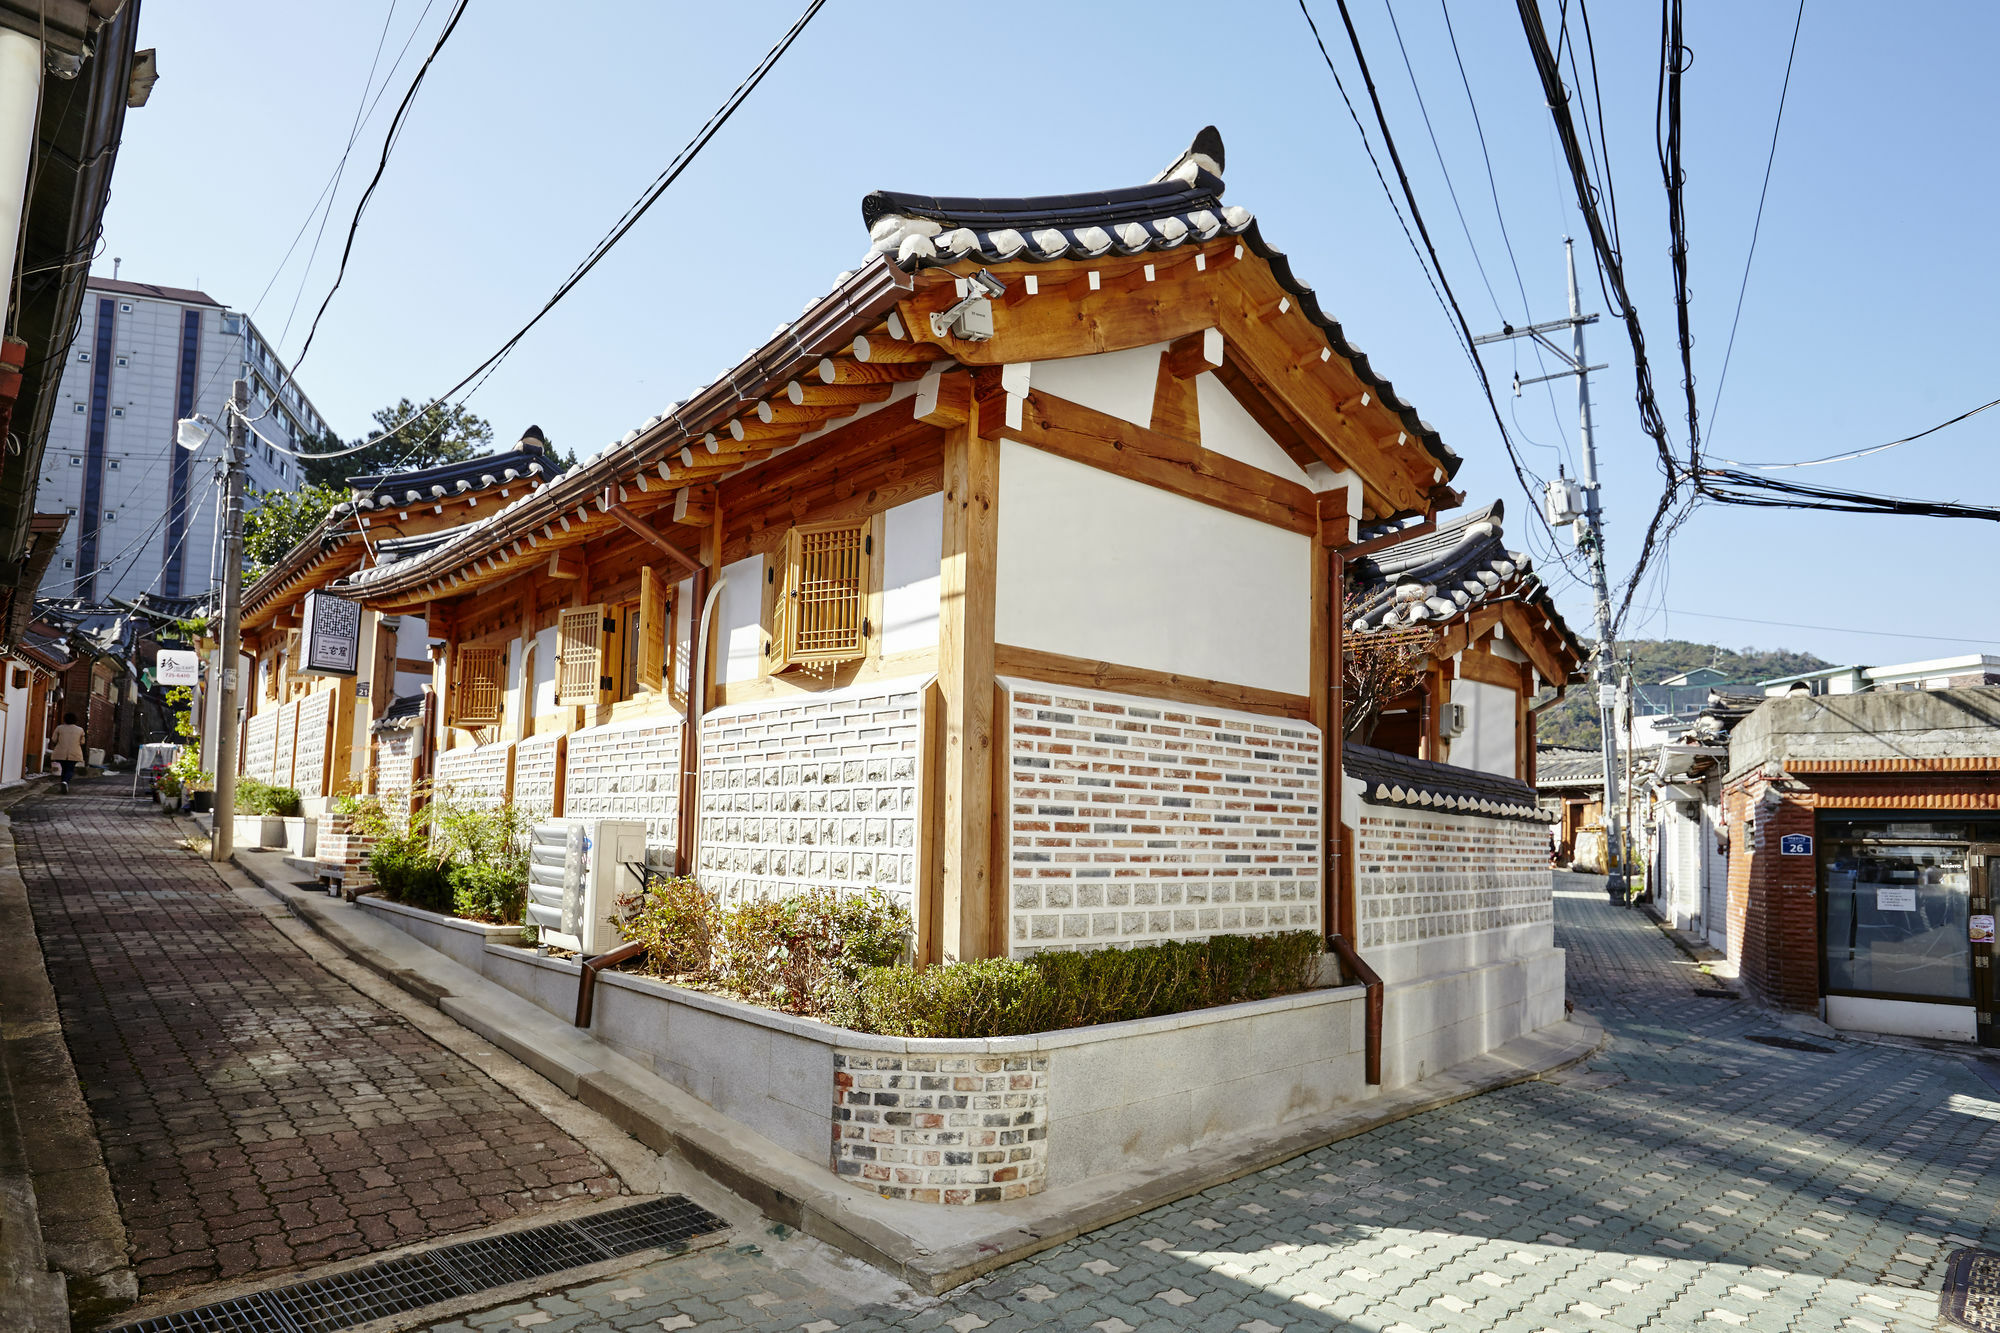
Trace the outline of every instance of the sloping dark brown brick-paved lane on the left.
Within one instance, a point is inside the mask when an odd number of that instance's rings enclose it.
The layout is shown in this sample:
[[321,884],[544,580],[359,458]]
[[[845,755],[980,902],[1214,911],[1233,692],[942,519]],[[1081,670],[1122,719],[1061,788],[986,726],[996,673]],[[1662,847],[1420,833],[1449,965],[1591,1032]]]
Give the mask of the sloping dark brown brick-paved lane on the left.
[[320,969],[116,777],[14,809],[144,1295],[348,1259],[618,1181]]

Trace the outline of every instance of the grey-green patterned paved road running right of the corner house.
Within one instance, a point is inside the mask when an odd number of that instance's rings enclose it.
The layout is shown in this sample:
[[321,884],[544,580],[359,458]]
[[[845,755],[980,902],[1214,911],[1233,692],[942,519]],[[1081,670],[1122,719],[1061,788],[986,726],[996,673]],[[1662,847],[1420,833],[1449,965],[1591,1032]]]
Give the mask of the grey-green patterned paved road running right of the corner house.
[[1716,987],[1596,881],[1558,883],[1570,993],[1614,1043],[1556,1081],[1308,1153],[944,1301],[828,1283],[788,1259],[796,1243],[748,1237],[764,1245],[438,1329],[1938,1327],[1942,1259],[2000,1245],[2000,1091],[1952,1055],[1750,1041],[1798,1035],[1698,997]]

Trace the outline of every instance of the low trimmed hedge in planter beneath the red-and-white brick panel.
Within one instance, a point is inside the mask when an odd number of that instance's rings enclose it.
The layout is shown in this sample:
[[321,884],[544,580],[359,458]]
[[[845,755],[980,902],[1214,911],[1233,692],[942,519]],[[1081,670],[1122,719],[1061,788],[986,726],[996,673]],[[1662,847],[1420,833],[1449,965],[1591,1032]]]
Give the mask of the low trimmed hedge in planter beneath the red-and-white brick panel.
[[1318,957],[1316,933],[1290,931],[1018,963],[870,967],[826,1011],[842,1027],[884,1037],[1018,1037],[1290,995],[1312,985]]

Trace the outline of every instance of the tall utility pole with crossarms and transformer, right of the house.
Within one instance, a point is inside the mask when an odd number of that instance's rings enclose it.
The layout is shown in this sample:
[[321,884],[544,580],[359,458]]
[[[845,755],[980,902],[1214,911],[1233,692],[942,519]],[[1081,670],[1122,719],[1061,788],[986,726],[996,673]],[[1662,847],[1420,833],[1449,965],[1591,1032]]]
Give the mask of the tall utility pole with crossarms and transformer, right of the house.
[[[1582,546],[1590,556],[1590,590],[1596,598],[1596,620],[1598,620],[1598,646],[1590,654],[1590,675],[1598,687],[1598,737],[1604,747],[1604,823],[1606,823],[1606,851],[1612,859],[1610,881],[1606,889],[1614,895],[1624,893],[1626,877],[1626,845],[1624,845],[1624,807],[1618,797],[1618,679],[1616,662],[1612,660],[1612,588],[1610,578],[1604,572],[1604,508],[1598,502],[1598,440],[1590,422],[1590,372],[1604,370],[1604,364],[1592,366],[1584,358],[1584,324],[1596,324],[1596,314],[1584,314],[1580,298],[1576,294],[1576,246],[1564,236],[1562,252],[1570,268],[1570,318],[1566,320],[1544,320],[1540,324],[1530,324],[1528,328],[1506,326],[1496,334],[1482,334],[1472,342],[1504,342],[1508,338],[1534,338],[1540,346],[1554,352],[1558,360],[1564,362],[1562,370],[1554,374],[1538,374],[1532,380],[1514,376],[1514,392],[1520,394],[1522,384],[1540,384],[1542,380],[1554,380],[1562,376],[1576,376],[1576,418],[1582,432],[1584,444],[1584,464],[1582,464],[1582,510],[1576,508],[1576,496],[1570,494],[1572,486],[1566,478],[1548,484],[1548,508],[1552,522],[1580,520],[1580,530],[1576,532],[1576,544]],[[1550,340],[1548,334],[1568,328],[1570,346],[1564,350]]]

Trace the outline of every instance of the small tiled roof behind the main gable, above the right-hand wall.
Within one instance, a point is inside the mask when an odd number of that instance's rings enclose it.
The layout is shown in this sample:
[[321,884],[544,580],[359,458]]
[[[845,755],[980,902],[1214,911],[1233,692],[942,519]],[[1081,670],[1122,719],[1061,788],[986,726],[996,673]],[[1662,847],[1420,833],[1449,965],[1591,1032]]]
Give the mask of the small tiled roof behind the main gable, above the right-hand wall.
[[1480,606],[1524,602],[1548,622],[1548,634],[1570,662],[1584,662],[1590,652],[1556,610],[1534,560],[1506,548],[1500,530],[1506,506],[1494,500],[1422,536],[1348,562],[1356,590],[1350,632],[1442,628]]

